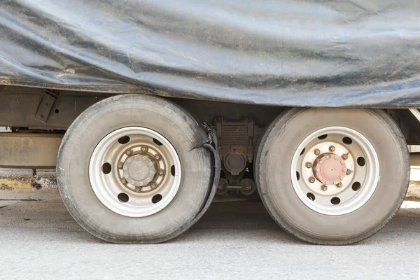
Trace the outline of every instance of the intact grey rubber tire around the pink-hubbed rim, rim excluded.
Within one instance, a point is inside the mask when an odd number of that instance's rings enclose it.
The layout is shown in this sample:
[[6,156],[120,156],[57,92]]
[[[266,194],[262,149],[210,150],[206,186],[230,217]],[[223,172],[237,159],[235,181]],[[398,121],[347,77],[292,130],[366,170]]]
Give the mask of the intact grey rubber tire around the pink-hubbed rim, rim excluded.
[[[348,214],[328,216],[297,197],[290,165],[297,146],[318,129],[345,126],[366,137],[380,167],[377,188],[365,204]],[[393,120],[381,110],[291,109],[267,128],[255,162],[256,181],[269,214],[295,237],[314,244],[352,244],[388,223],[398,211],[409,184],[409,152]]]

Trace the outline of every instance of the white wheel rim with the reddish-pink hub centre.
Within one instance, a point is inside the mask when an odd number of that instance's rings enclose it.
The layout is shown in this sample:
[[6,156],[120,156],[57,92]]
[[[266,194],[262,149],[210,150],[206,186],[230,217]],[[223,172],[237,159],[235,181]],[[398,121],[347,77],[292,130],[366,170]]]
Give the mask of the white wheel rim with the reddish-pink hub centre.
[[356,211],[379,181],[379,160],[372,144],[347,127],[313,132],[293,155],[290,176],[297,197],[325,215]]

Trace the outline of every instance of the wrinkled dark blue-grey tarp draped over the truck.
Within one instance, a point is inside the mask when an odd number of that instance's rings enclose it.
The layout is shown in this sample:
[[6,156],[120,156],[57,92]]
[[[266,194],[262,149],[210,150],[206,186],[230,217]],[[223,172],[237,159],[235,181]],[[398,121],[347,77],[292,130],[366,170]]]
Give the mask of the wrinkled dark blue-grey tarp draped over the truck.
[[0,0],[0,38],[12,85],[420,105],[419,0]]

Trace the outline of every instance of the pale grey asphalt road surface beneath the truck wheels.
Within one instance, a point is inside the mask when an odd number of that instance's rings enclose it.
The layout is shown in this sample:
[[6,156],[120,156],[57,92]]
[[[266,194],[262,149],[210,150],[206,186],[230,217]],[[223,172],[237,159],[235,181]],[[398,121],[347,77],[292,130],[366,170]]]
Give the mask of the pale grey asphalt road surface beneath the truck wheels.
[[259,202],[212,204],[195,227],[155,245],[82,230],[56,191],[0,193],[0,279],[419,279],[420,202],[352,246],[290,237]]

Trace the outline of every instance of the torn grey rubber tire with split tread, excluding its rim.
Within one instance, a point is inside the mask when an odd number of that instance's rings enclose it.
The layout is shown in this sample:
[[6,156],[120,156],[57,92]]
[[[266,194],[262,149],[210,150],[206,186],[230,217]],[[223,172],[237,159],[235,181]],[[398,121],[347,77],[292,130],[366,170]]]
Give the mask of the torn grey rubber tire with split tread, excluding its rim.
[[[172,202],[156,214],[121,216],[102,204],[90,186],[90,155],[107,134],[123,127],[146,127],[175,148],[182,167]],[[95,237],[113,243],[158,243],[190,228],[209,192],[211,155],[202,148],[207,134],[183,109],[159,97],[125,94],[104,99],[83,112],[67,130],[57,158],[59,193],[71,216]]]

